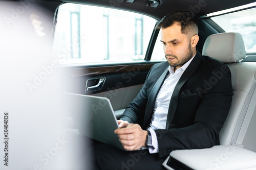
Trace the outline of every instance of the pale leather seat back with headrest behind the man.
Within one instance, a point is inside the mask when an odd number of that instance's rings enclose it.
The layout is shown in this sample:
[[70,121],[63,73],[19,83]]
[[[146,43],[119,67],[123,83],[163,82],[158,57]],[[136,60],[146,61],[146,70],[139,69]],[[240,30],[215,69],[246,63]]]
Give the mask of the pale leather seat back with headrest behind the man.
[[231,71],[234,95],[220,132],[220,144],[239,145],[256,152],[256,62],[239,62],[245,58],[242,36],[239,33],[210,35],[202,54],[227,64]]

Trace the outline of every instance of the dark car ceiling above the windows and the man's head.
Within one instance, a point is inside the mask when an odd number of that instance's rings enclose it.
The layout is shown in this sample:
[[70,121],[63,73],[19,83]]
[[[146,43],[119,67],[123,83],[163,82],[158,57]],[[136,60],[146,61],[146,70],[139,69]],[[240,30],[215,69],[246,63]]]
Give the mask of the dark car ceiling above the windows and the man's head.
[[[52,0],[53,1],[53,0]],[[118,8],[127,11],[136,11],[157,20],[173,11],[189,10],[197,17],[233,7],[246,5],[255,0],[159,0],[160,4],[154,8],[146,6],[147,0],[54,0],[55,2],[88,4],[109,8]],[[127,1],[134,1],[129,3]]]

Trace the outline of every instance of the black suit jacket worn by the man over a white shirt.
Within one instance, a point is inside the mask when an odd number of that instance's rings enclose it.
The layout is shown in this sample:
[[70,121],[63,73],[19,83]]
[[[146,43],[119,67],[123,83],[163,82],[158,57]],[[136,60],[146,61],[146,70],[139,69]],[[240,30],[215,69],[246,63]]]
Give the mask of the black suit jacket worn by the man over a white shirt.
[[[150,126],[158,91],[168,73],[169,63],[155,64],[133,102],[120,119]],[[155,130],[159,157],[177,149],[210,148],[219,144],[219,132],[232,101],[228,66],[197,52],[178,81],[167,114],[166,129]]]

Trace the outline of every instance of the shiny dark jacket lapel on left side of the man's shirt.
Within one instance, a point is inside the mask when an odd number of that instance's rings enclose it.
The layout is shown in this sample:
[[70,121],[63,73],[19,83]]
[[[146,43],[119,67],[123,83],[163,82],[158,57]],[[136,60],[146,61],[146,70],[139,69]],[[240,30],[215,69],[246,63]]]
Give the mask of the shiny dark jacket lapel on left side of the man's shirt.
[[147,105],[146,105],[144,121],[143,121],[143,124],[142,124],[143,128],[146,128],[146,126],[148,124],[150,124],[153,109],[154,109],[154,105],[155,105],[155,101],[156,101],[156,98],[157,98],[157,94],[158,94],[158,91],[159,91],[161,85],[163,84],[163,81],[165,80],[167,72],[168,72],[168,67],[164,70],[163,74],[159,77],[156,84],[154,85],[154,87],[151,90],[151,93],[150,93],[150,96],[148,98],[148,102],[147,102]]

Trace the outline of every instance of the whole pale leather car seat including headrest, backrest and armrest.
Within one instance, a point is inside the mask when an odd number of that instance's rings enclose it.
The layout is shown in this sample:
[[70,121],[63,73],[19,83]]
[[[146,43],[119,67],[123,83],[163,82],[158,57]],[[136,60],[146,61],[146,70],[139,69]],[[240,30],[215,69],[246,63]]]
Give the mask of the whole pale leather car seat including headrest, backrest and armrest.
[[221,145],[173,151],[163,165],[176,169],[170,163],[176,162],[173,159],[191,169],[256,169],[256,62],[239,62],[246,57],[239,33],[210,35],[202,54],[227,64],[231,71],[234,95],[220,132]]

